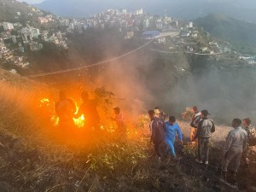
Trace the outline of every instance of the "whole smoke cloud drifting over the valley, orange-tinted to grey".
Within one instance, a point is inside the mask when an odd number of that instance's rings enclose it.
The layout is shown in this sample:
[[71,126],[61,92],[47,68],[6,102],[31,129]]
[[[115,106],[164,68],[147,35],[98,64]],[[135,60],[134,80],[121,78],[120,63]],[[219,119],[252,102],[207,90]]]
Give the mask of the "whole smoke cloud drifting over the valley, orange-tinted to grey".
[[183,55],[167,56],[167,61],[160,57],[141,52],[113,62],[96,84],[113,90],[120,99],[117,105],[132,113],[159,106],[179,118],[185,108],[197,105],[209,110],[211,119],[220,124],[230,125],[232,119],[245,117],[256,121],[255,67],[213,63],[189,73],[189,61]]

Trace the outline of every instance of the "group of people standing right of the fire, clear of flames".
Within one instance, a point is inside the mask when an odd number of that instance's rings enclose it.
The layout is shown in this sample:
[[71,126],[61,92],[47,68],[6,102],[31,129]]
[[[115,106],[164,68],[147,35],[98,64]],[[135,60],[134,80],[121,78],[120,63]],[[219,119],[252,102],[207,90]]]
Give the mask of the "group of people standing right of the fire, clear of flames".
[[[207,165],[209,162],[209,144],[212,134],[215,132],[215,125],[212,119],[208,118],[210,113],[207,110],[199,112],[196,106],[192,110],[194,115],[190,123],[190,141],[196,142],[198,146],[198,157],[195,162]],[[165,121],[160,115],[159,108],[149,110],[148,117],[151,120],[149,125],[151,131],[150,143],[154,144],[154,150],[159,160],[165,160],[168,154],[171,154],[172,158],[176,159],[174,148],[176,137],[183,145],[183,134],[176,123],[176,118],[171,116]],[[241,124],[244,125],[243,128],[241,128]],[[256,131],[251,125],[251,119],[233,119],[232,127],[233,130],[226,137],[222,154],[221,167],[224,181],[227,181],[229,165],[233,177],[236,177],[241,159],[246,159],[248,148],[256,144]]]

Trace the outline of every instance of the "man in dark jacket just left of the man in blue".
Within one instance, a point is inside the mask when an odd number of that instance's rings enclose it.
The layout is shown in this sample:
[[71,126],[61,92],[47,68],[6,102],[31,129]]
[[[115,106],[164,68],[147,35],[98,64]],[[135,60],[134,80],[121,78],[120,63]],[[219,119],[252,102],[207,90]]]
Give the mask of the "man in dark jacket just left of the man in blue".
[[148,117],[151,120],[150,143],[154,144],[154,150],[156,154],[159,156],[160,160],[164,160],[166,156],[166,123],[164,122],[163,119],[160,119],[159,117],[155,116],[154,110],[148,111]]

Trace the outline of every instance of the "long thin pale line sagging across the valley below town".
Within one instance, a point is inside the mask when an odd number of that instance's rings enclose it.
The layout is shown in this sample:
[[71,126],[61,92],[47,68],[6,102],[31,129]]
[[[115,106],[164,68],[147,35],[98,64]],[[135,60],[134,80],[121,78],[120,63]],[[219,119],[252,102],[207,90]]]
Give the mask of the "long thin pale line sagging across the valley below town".
[[26,78],[29,78],[29,79],[31,79],[31,78],[38,78],[38,77],[44,77],[44,76],[49,76],[49,75],[53,75],[53,74],[59,74],[59,73],[67,73],[67,72],[78,71],[78,70],[81,70],[81,69],[84,69],[84,68],[89,68],[89,67],[101,66],[101,65],[107,64],[108,62],[119,60],[120,58],[125,57],[125,56],[127,56],[127,55],[131,55],[132,53],[137,52],[139,49],[143,49],[143,47],[145,47],[145,46],[147,46],[148,44],[150,44],[153,40],[154,40],[154,39],[151,39],[148,43],[143,44],[142,46],[138,47],[137,49],[133,49],[133,50],[131,50],[130,52],[125,53],[124,55],[119,55],[119,56],[113,57],[113,58],[109,59],[108,61],[100,61],[100,62],[96,62],[96,63],[91,64],[91,65],[88,65],[88,66],[73,67],[73,68],[58,70],[58,71],[55,71],[55,72],[48,72],[48,73],[39,73],[39,74],[34,74],[34,75],[27,75]]

